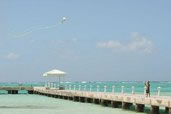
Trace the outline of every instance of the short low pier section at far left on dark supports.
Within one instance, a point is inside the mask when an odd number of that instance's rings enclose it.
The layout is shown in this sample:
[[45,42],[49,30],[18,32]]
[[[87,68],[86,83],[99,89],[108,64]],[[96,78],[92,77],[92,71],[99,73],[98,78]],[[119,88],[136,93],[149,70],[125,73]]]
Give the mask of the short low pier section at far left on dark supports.
[[28,94],[33,94],[33,87],[17,86],[17,87],[0,87],[0,90],[8,91],[8,94],[18,94],[20,90],[28,91]]

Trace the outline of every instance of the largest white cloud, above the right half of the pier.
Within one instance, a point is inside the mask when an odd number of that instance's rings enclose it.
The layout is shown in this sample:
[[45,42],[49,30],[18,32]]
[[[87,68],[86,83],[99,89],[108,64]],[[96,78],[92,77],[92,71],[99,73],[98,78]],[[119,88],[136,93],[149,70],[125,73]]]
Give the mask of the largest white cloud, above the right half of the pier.
[[132,40],[127,44],[119,41],[105,41],[97,43],[98,48],[110,48],[115,51],[136,51],[143,53],[151,53],[153,50],[153,43],[148,40],[146,36],[140,35],[137,32],[131,33]]

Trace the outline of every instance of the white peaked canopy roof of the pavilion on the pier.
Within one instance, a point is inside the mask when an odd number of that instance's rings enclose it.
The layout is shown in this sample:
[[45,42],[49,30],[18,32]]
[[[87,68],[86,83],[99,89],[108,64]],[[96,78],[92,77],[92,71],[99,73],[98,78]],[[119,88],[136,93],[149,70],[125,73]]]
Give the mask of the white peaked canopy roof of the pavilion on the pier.
[[64,77],[65,75],[66,75],[66,72],[63,72],[63,71],[57,70],[57,69],[45,72],[43,74],[43,76],[45,76],[45,77]]

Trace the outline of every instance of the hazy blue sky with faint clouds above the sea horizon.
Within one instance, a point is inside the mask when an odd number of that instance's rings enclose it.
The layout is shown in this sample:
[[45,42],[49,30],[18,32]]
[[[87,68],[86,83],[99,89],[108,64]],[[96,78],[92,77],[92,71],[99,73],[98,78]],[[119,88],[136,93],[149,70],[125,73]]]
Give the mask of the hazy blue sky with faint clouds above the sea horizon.
[[0,82],[52,69],[66,81],[171,81],[170,12],[170,0],[0,0]]

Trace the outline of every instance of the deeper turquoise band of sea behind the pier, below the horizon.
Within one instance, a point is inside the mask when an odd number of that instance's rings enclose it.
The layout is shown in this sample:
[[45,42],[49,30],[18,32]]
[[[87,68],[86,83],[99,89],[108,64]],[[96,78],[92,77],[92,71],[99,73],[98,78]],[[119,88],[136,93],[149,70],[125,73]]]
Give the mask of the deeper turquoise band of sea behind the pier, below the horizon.
[[[164,81],[164,82],[151,82],[151,94],[157,95],[158,87],[160,87],[160,94],[162,96],[171,96],[171,82],[170,81]],[[51,84],[46,84],[44,82],[34,82],[34,83],[0,83],[0,86],[33,86],[33,87],[43,87],[43,86],[51,86],[58,88],[59,83],[53,82]],[[61,82],[60,85],[65,86],[66,89],[69,89],[71,86],[71,89],[79,90],[79,86],[81,90],[84,90],[86,85],[86,90],[90,90],[90,85],[92,86],[92,91],[97,91],[97,86],[99,86],[99,91],[104,91],[104,86],[106,86],[107,92],[112,92],[112,86],[115,86],[115,92],[120,93],[121,87],[124,86],[124,92],[125,93],[131,93],[132,92],[132,86],[134,86],[135,94],[143,94],[144,93],[144,82],[137,81],[137,82]],[[7,93],[5,91],[0,91],[1,94]],[[22,92],[21,92],[22,93]],[[24,93],[24,91],[23,91]]]

